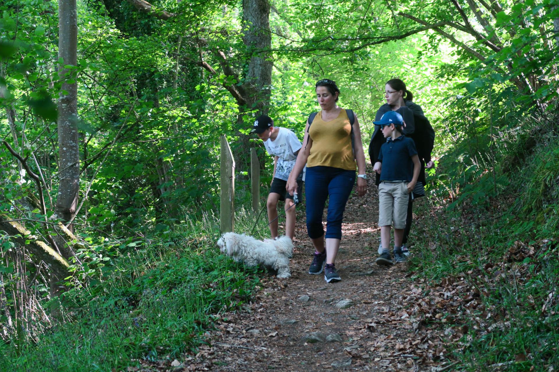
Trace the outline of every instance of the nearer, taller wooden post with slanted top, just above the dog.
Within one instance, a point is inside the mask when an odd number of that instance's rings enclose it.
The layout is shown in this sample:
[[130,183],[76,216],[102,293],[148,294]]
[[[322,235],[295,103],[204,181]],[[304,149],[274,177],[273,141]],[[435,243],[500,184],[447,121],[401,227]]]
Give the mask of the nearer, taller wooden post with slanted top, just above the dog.
[[233,231],[235,222],[235,159],[224,135],[220,152],[220,230]]

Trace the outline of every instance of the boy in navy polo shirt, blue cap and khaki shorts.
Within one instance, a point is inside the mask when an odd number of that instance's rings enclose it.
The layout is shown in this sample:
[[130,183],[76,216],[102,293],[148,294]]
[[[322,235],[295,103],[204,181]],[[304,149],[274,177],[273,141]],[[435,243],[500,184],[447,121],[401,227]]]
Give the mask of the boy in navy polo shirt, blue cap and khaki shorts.
[[[381,120],[373,121],[381,126],[382,135],[389,139],[381,146],[374,170],[380,174],[378,185],[378,226],[381,227],[382,254],[378,265],[392,265],[390,256],[390,228],[394,222],[394,259],[406,261],[403,254],[402,239],[408,214],[409,193],[419,178],[418,152],[414,141],[402,134],[404,121],[396,111],[385,113]],[[389,138],[390,137],[390,138]]]

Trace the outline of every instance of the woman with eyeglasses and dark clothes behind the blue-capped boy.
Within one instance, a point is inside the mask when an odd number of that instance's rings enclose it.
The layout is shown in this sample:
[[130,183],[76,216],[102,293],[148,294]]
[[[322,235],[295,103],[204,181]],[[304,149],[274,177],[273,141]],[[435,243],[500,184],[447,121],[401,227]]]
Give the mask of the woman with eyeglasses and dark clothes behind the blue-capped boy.
[[[386,103],[383,104],[377,111],[375,121],[381,120],[382,115],[389,111],[396,111],[404,118],[404,135],[414,140],[416,149],[418,151],[419,160],[421,163],[420,174],[418,182],[414,191],[409,194],[408,201],[408,216],[406,217],[406,227],[404,228],[404,239],[402,240],[401,253],[398,262],[405,261],[406,256],[409,255],[406,242],[410,233],[411,221],[413,216],[413,201],[416,197],[425,195],[423,186],[425,185],[425,166],[433,168],[434,163],[431,160],[431,151],[433,150],[433,141],[435,139],[435,132],[431,127],[429,120],[425,117],[423,109],[419,104],[414,103],[413,94],[406,89],[406,84],[400,79],[390,79],[385,85],[385,99]],[[416,120],[417,119],[417,120]],[[379,126],[375,126],[375,131],[371,136],[369,144],[369,157],[371,163],[375,164],[378,159],[378,154],[382,144],[389,139],[382,136]],[[380,184],[380,175],[376,174],[376,185]],[[378,254],[382,253],[382,247],[378,247]]]

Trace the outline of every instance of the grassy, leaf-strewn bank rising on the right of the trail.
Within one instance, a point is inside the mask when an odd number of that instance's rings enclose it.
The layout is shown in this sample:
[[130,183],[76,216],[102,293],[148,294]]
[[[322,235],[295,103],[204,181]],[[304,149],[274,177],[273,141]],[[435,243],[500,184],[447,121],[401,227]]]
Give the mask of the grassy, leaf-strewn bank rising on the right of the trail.
[[514,127],[496,149],[448,151],[417,211],[412,268],[434,299],[423,321],[444,327],[452,370],[559,365],[557,118]]

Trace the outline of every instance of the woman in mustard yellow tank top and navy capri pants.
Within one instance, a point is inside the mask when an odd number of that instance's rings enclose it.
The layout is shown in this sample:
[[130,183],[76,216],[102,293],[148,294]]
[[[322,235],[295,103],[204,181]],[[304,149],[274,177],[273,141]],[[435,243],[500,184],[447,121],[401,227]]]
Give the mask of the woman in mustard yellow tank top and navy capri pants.
[[[312,113],[306,122],[303,147],[287,180],[287,190],[297,189],[297,175],[307,164],[305,179],[307,233],[315,248],[309,274],[320,274],[324,268],[326,283],[342,280],[335,269],[342,239],[345,204],[356,179],[357,193],[367,192],[365,155],[357,117],[351,110],[338,106],[340,90],[333,80],[315,84],[321,111]],[[324,206],[328,201],[326,233],[322,225]]]

